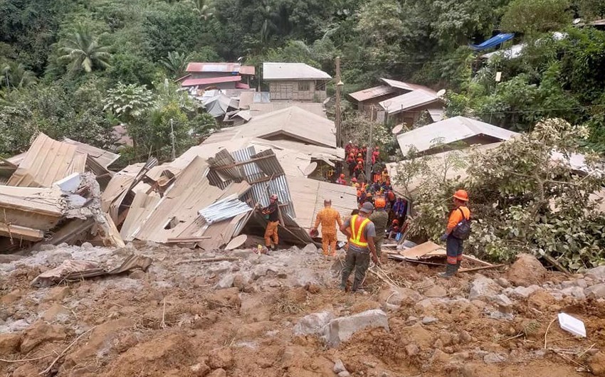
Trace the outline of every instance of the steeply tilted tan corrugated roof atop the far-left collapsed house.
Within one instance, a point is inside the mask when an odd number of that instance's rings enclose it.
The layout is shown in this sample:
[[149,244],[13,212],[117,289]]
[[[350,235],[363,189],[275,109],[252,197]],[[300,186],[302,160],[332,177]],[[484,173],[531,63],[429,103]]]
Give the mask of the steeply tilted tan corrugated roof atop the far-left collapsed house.
[[9,181],[8,186],[50,187],[73,173],[83,173],[86,154],[73,144],[38,134]]

